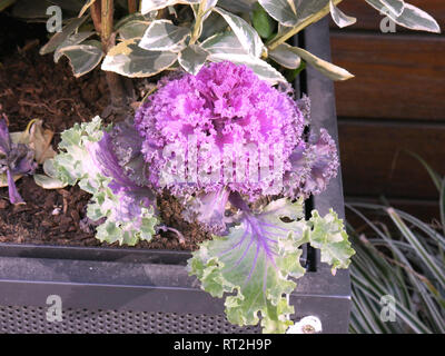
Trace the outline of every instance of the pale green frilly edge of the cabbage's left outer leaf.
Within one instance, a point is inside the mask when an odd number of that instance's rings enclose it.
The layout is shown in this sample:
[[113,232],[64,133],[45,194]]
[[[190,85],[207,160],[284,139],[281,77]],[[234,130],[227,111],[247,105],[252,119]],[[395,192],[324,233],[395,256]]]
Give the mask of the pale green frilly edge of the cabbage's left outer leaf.
[[[91,145],[102,139],[103,131],[110,129],[111,127],[105,128],[101,119],[96,117],[91,122],[76,123],[71,129],[63,131],[59,144],[60,154],[53,158],[53,167],[48,167],[46,172],[56,176],[53,178],[63,184],[78,184],[82,190],[92,195],[87,215],[95,221],[103,219],[97,228],[98,239],[134,246],[139,240],[151,239],[156,234],[155,226],[158,219],[152,207],[144,206],[139,215],[122,219],[125,197],[115,195],[108,188],[111,178],[102,176],[89,151]],[[135,204],[134,201],[131,204]]]

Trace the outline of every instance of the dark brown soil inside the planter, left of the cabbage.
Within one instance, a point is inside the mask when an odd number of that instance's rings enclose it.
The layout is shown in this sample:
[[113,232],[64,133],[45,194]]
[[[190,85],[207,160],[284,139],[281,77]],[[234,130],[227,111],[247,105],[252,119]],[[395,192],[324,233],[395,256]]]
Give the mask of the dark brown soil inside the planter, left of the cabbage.
[[[10,36],[11,27],[21,31],[20,40]],[[56,149],[60,132],[75,122],[101,115],[109,95],[100,70],[76,79],[65,58],[55,65],[52,55],[40,56],[38,50],[44,37],[39,31],[39,27],[17,27],[17,22],[0,17],[0,110],[8,116],[11,132],[22,131],[31,119],[42,119],[56,132]],[[0,188],[0,243],[110,246],[97,240],[93,231],[80,228],[89,194],[78,187],[46,190],[32,177],[21,178],[17,186],[26,205],[10,205],[8,189]],[[168,194],[158,198],[158,206],[162,221],[181,231],[186,241],[180,244],[168,231],[137,247],[194,250],[208,238],[198,225],[184,221],[181,206]]]

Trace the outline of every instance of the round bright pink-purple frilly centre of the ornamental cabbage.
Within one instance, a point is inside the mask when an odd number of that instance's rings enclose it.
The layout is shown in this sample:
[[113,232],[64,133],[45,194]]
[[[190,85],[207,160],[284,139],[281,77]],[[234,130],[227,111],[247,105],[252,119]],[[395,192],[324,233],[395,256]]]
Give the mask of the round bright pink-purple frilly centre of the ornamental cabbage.
[[[156,188],[181,186],[189,194],[186,180],[194,182],[196,192],[227,186],[255,200],[269,194],[274,179],[281,179],[290,168],[287,158],[301,140],[304,117],[290,96],[261,81],[246,66],[226,61],[210,63],[197,76],[162,82],[136,113],[135,125],[144,138],[142,152]],[[179,175],[186,174],[186,179],[174,182],[161,179],[171,167],[171,156],[165,157],[164,149],[171,145],[187,167]],[[261,151],[266,162],[258,160],[250,169],[253,155]],[[275,175],[258,174],[261,167],[274,166],[279,167]]]

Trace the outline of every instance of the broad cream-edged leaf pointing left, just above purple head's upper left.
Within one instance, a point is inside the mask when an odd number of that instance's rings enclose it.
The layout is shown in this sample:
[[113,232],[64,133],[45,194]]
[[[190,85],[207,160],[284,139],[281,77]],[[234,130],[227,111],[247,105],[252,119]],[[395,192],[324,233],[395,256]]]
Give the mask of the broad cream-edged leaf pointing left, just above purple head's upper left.
[[147,51],[138,46],[138,40],[130,39],[111,48],[101,68],[130,78],[144,78],[161,72],[177,59],[176,52]]

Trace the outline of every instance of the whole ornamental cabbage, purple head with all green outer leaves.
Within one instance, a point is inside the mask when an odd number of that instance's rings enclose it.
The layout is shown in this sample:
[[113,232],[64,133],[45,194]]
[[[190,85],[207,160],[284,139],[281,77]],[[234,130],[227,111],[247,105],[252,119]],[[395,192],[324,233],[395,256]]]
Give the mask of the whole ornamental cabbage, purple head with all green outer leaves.
[[333,210],[303,214],[339,165],[329,134],[308,134],[309,112],[307,97],[295,100],[246,66],[210,63],[162,78],[134,122],[102,127],[96,118],[63,132],[57,178],[93,195],[88,216],[102,222],[99,239],[128,245],[175,230],[156,216],[156,195],[170,190],[184,218],[212,234],[189,274],[226,298],[229,322],[261,319],[265,333],[285,333],[289,294],[305,274],[300,247],[320,249],[333,273],[354,254]]

